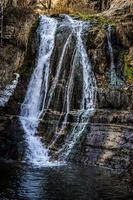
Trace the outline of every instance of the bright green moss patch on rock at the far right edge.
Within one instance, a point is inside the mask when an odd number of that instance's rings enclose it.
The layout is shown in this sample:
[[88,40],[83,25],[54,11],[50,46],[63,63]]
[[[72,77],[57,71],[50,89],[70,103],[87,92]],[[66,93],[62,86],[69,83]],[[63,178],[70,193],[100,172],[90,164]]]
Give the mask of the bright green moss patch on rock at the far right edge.
[[127,81],[133,83],[133,65],[125,64],[125,75],[127,77]]

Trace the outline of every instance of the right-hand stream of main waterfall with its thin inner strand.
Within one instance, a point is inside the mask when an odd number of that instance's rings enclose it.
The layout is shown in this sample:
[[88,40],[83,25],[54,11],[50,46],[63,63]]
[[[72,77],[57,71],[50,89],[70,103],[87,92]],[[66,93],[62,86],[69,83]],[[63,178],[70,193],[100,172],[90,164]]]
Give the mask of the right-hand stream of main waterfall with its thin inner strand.
[[[55,141],[58,140],[61,134],[64,134],[65,128],[67,127],[68,114],[71,112],[70,102],[73,95],[74,74],[75,74],[76,63],[80,64],[83,71],[83,89],[82,89],[83,94],[82,94],[82,101],[80,105],[81,111],[79,112],[77,123],[71,135],[67,139],[63,148],[58,152],[59,157],[61,154],[61,157],[64,157],[66,159],[68,155],[70,154],[70,152],[72,151],[72,149],[74,148],[77,141],[79,140],[80,136],[84,132],[86,124],[91,115],[91,112],[95,108],[96,81],[91,69],[91,63],[89,61],[88,54],[85,49],[85,45],[82,39],[82,37],[85,36],[85,32],[89,30],[90,22],[73,20],[71,17],[67,15],[64,15],[64,17],[65,17],[65,23],[67,24],[67,26],[71,27],[70,35],[71,36],[73,35],[76,39],[76,46],[75,46],[75,52],[72,58],[71,70],[70,70],[70,75],[69,75],[69,79],[67,83],[67,91],[66,91],[66,96],[65,96],[66,114],[62,122],[62,126],[58,128],[58,125],[57,125],[56,139],[54,139],[50,147],[54,146]],[[59,122],[60,122],[60,119],[59,119]]]

